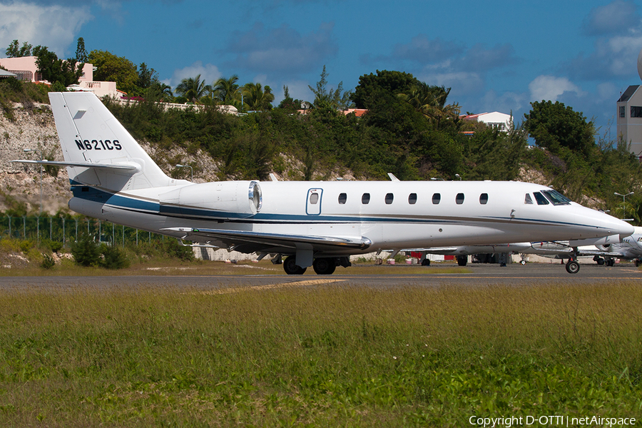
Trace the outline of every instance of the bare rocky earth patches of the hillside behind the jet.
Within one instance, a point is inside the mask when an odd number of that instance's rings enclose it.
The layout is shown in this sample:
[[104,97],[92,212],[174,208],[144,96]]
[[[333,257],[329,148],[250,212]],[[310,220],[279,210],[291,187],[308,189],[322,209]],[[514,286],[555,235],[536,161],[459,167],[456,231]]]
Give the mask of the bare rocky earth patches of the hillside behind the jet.
[[[40,189],[39,168],[34,165],[11,163],[14,159],[36,159],[39,155],[34,152],[24,153],[24,148],[37,148],[42,151],[44,158],[62,160],[61,148],[54,125],[54,118],[48,104],[14,103],[14,120],[6,115],[0,116],[0,211],[11,215],[37,214],[39,211]],[[189,168],[175,168],[174,165],[193,165],[194,181],[203,183],[220,179],[219,162],[209,153],[200,148],[185,148],[179,145],[168,147],[165,144],[150,144],[141,142],[150,156],[170,176],[175,178],[190,177]],[[283,179],[300,178],[300,171],[305,168],[302,161],[291,154],[279,153],[280,160],[277,176]],[[285,165],[285,167],[284,167]],[[274,165],[272,165],[274,166]],[[275,172],[275,168],[270,171]],[[346,168],[325,168],[317,170],[314,179],[334,180],[337,177],[354,179],[355,174]],[[549,185],[551,178],[534,168],[522,166],[516,177],[517,180]],[[234,176],[227,176],[234,179]],[[43,213],[55,215],[58,212],[68,213],[67,202],[71,198],[68,185],[68,175],[65,168],[59,168],[57,174],[43,173]],[[582,203],[597,207],[601,201],[583,198]]]

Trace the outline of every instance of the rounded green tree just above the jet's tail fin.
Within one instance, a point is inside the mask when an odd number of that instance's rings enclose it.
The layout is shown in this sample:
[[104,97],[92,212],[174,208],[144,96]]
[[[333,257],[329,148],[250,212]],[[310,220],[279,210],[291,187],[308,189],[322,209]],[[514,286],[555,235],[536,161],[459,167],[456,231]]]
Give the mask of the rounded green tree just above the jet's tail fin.
[[138,70],[136,64],[124,56],[116,56],[108,51],[91,51],[88,59],[96,67],[93,78],[97,81],[113,81],[121,91],[131,94],[137,92]]

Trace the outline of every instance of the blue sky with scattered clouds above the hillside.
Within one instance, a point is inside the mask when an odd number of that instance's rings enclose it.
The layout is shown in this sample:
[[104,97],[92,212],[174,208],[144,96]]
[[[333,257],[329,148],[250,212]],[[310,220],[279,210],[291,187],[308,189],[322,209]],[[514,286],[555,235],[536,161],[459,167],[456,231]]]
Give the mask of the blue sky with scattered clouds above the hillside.
[[641,83],[639,1],[0,0],[0,54],[12,40],[67,58],[86,49],[145,62],[175,87],[284,85],[312,101],[328,86],[355,88],[377,70],[452,88],[462,113],[501,111],[521,122],[531,101],[561,101],[615,136],[620,93]]

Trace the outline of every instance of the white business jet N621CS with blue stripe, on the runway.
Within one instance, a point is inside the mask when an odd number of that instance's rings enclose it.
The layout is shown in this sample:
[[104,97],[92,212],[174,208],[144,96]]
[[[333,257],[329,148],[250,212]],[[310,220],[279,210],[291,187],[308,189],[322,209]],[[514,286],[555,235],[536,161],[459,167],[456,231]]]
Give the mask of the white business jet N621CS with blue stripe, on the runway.
[[[288,274],[331,274],[379,249],[595,239],[633,228],[551,188],[491,181],[225,181],[163,173],[93,93],[50,93],[69,208],[133,228],[259,258]],[[579,265],[577,265],[579,268]]]

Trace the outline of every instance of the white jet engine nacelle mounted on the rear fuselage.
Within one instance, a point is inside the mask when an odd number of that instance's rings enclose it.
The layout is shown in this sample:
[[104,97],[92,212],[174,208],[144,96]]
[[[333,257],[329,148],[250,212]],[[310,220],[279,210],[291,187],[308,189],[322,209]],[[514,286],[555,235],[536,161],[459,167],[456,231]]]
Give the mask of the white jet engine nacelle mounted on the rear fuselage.
[[160,197],[161,213],[181,217],[248,218],[261,209],[256,181],[220,181],[186,185]]

